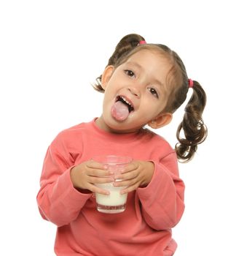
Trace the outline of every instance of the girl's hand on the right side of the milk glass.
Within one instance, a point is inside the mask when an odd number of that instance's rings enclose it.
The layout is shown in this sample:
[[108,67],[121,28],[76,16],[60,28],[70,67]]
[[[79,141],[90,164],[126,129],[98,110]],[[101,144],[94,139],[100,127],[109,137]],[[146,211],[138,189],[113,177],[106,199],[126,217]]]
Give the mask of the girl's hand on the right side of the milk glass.
[[154,163],[146,161],[133,161],[121,171],[115,178],[114,187],[126,187],[121,194],[131,192],[138,187],[146,187],[152,180],[154,174]]

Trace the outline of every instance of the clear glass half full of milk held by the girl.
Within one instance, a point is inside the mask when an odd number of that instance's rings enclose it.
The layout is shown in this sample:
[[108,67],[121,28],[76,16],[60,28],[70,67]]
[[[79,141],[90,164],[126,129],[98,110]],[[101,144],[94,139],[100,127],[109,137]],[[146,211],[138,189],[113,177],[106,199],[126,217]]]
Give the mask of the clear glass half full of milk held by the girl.
[[[125,166],[129,164],[133,159],[131,157],[119,157],[111,155],[93,157],[93,160],[106,165],[108,170],[113,172],[115,176],[120,172],[120,170],[123,170]],[[101,189],[109,190],[110,192],[109,195],[95,193],[98,211],[106,214],[117,214],[119,212],[125,211],[127,194],[120,194],[120,191],[125,187],[114,187],[112,182],[95,185]]]

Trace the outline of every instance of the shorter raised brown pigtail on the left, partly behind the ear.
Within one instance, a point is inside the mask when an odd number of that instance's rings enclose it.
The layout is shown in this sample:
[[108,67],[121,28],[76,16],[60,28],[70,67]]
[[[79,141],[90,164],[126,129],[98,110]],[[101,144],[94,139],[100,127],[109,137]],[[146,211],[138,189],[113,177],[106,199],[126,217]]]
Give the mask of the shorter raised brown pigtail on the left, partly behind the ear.
[[[145,41],[144,37],[141,37],[138,34],[127,34],[127,36],[123,37],[117,44],[114,50],[114,53],[109,58],[109,62],[107,66],[109,65],[115,66],[117,64],[117,61],[119,61],[120,58],[127,55],[127,53],[129,53],[130,50],[132,50],[137,45],[139,45],[139,42],[141,41]],[[102,78],[102,75],[96,78],[95,83],[93,84],[93,88],[96,91],[103,92],[104,90],[101,86],[101,78]]]

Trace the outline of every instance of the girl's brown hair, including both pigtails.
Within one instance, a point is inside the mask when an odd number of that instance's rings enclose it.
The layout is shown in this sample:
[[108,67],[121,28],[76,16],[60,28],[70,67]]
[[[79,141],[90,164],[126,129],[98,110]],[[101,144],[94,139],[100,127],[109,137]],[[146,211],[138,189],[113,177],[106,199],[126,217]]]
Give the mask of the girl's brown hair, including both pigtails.
[[[168,104],[162,112],[174,113],[185,101],[186,94],[189,91],[189,79],[186,74],[183,61],[178,54],[170,50],[166,45],[161,44],[143,44],[144,37],[138,34],[128,34],[123,37],[114,53],[111,55],[107,66],[113,65],[115,68],[127,61],[134,53],[142,49],[156,50],[161,53],[171,64],[170,72],[168,72],[167,83],[172,86]],[[103,92],[101,86],[101,75],[96,79],[93,85],[94,89]],[[176,154],[179,160],[187,162],[194,156],[197,151],[197,145],[202,143],[207,137],[207,128],[203,122],[202,114],[206,104],[206,95],[200,83],[193,81],[192,97],[186,105],[184,118],[179,124],[176,137]],[[181,137],[181,133],[183,136]]]

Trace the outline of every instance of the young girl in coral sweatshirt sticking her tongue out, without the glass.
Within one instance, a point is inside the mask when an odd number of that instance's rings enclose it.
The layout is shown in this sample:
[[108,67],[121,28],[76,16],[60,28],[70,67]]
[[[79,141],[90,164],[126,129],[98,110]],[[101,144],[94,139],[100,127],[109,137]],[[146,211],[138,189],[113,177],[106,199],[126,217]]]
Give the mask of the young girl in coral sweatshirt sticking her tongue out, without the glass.
[[[37,195],[44,219],[58,226],[59,256],[173,255],[174,227],[184,212],[184,183],[177,159],[189,161],[206,137],[205,92],[190,80],[178,55],[165,45],[147,44],[138,34],[123,37],[95,89],[104,92],[103,113],[89,123],[60,132],[47,150]],[[192,90],[175,150],[151,129],[169,124]],[[110,176],[97,155],[134,160]],[[95,184],[126,187],[127,206],[119,214],[96,210]]]

